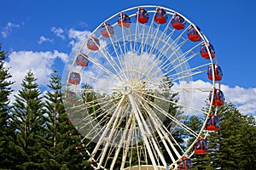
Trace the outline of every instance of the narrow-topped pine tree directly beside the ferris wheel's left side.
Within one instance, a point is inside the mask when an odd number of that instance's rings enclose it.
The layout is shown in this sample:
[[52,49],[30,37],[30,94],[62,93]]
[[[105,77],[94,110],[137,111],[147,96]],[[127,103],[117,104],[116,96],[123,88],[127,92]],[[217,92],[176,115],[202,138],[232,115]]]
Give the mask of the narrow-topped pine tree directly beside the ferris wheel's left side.
[[67,116],[61,99],[61,77],[55,70],[50,77],[50,90],[46,99],[47,149],[44,150],[44,163],[48,169],[82,169],[90,164],[85,150],[79,150],[80,135]]

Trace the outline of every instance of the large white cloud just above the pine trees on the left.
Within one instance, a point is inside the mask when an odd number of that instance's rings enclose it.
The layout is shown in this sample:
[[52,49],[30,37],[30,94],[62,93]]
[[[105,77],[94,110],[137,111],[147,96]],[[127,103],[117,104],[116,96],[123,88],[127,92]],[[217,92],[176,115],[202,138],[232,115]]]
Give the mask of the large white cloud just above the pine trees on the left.
[[6,63],[10,67],[10,74],[14,90],[20,89],[20,83],[25,77],[27,71],[32,71],[35,77],[38,78],[39,85],[46,85],[49,82],[49,76],[53,73],[53,65],[55,59],[61,59],[63,62],[67,60],[67,54],[58,51],[53,52],[32,52],[19,51],[9,54],[9,62]]

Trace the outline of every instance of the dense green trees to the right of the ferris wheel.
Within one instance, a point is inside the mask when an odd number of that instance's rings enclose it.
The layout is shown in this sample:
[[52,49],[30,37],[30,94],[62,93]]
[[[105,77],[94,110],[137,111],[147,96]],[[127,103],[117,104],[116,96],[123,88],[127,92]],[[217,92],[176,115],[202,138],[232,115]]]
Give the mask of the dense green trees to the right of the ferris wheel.
[[255,118],[242,115],[232,103],[218,108],[218,118],[221,129],[209,133],[209,154],[195,156],[195,169],[255,169]]

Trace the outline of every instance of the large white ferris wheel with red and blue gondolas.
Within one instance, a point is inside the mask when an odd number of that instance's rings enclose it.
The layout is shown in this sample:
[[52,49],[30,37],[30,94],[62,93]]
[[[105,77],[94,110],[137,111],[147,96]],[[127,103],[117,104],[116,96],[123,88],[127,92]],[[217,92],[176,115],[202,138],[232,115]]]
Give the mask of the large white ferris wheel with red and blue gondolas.
[[[199,26],[144,5],[113,14],[73,48],[62,92],[92,167],[185,170],[219,129],[222,76]],[[200,129],[184,122],[191,115],[204,120]]]

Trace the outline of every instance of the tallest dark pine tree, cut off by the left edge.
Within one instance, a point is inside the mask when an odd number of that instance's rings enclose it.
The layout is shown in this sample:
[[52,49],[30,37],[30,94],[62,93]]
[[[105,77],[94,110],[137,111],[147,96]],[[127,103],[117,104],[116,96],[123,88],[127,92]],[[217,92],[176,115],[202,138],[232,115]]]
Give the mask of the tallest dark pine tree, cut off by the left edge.
[[14,130],[9,126],[9,95],[13,91],[9,86],[14,82],[9,81],[12,76],[9,74],[9,68],[4,67],[7,52],[1,51],[1,48],[0,44],[0,167],[8,169],[14,164],[9,148],[14,140],[11,135]]

